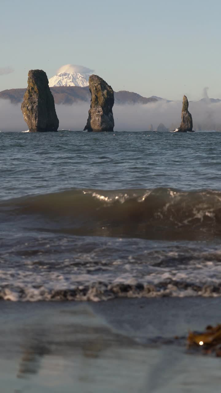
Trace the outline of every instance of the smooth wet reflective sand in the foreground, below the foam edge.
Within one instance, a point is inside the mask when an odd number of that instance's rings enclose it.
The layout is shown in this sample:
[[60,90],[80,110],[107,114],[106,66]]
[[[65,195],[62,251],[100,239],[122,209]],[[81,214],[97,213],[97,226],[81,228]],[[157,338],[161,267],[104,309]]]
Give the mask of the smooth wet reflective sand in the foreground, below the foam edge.
[[0,393],[217,393],[221,360],[186,336],[221,322],[220,301],[2,301]]

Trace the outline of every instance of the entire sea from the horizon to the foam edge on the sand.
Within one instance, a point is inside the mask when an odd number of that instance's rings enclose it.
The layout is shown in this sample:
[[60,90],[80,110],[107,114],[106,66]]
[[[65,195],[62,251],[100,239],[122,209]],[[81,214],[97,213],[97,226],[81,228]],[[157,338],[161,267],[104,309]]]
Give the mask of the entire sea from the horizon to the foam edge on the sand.
[[0,298],[221,296],[219,132],[0,140]]

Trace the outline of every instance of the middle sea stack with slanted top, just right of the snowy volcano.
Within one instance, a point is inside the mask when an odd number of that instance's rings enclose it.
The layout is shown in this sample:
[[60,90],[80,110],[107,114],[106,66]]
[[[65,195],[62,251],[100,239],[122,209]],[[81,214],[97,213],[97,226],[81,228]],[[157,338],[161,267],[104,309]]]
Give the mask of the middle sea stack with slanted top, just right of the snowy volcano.
[[89,89],[91,93],[90,110],[84,131],[113,131],[114,92],[112,87],[98,75],[90,75]]

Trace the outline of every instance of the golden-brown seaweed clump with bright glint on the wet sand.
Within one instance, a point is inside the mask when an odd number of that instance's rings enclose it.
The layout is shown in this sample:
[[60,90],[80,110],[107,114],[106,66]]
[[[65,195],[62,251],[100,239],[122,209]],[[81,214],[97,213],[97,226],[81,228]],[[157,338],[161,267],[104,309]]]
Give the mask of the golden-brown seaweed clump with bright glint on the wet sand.
[[189,332],[188,348],[201,347],[203,354],[221,356],[221,325],[208,325],[204,332]]

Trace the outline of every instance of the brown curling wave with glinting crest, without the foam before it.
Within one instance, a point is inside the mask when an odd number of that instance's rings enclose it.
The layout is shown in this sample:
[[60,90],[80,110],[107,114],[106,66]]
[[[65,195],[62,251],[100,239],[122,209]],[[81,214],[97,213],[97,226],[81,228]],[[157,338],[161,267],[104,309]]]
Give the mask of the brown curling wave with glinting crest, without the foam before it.
[[[221,192],[150,190],[68,191],[7,200],[2,221],[28,219],[33,229],[73,235],[162,240],[221,237]],[[25,224],[27,225],[27,224]]]

